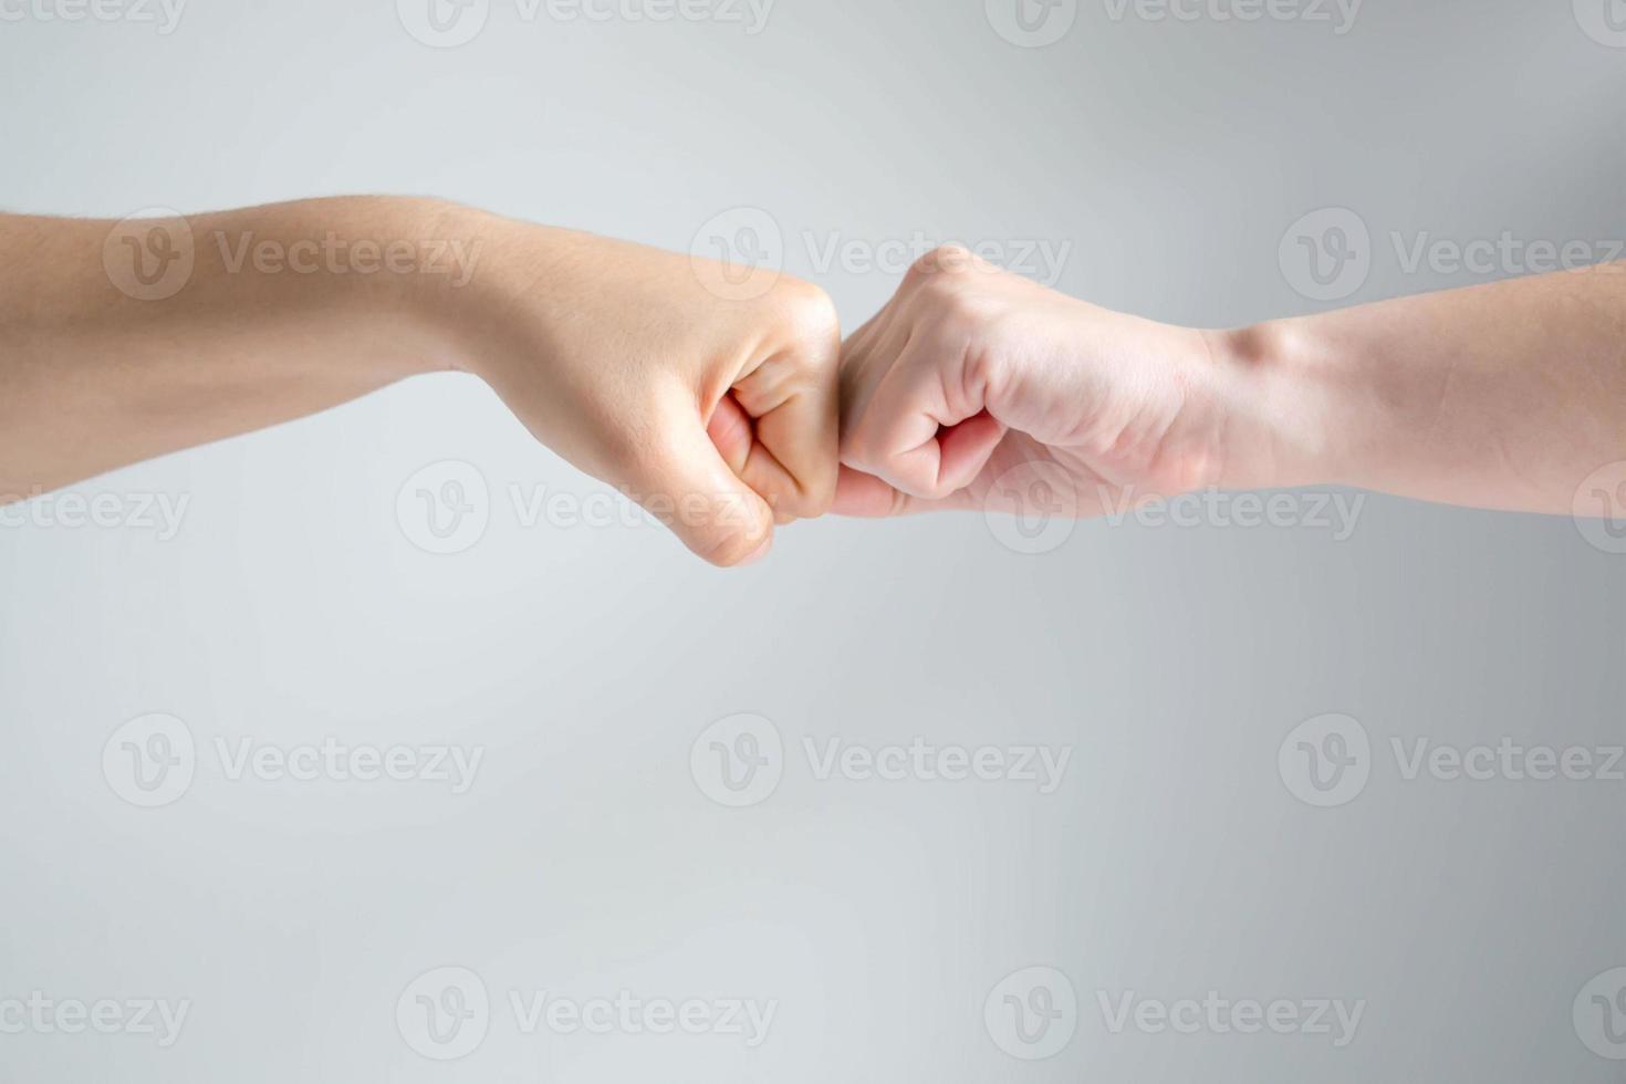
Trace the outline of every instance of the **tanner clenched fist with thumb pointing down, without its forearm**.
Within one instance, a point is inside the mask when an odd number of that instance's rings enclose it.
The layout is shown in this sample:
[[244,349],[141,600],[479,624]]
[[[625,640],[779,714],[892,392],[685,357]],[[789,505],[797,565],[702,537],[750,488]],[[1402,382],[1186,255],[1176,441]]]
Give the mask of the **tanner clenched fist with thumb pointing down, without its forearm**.
[[821,289],[779,278],[735,299],[720,265],[486,223],[478,289],[447,312],[467,367],[537,439],[714,564],[829,510],[841,330]]

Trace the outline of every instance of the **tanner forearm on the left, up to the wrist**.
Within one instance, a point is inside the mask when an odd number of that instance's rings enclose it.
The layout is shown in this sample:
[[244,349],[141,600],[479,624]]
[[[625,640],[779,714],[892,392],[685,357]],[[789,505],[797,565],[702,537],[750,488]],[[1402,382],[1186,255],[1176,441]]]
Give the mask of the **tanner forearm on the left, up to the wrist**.
[[[148,283],[114,226],[0,216],[0,501],[455,362],[437,299],[470,281],[478,239],[457,236],[454,208],[338,198],[193,216],[190,236],[174,221],[141,252]],[[156,281],[159,254],[187,249],[190,275]]]

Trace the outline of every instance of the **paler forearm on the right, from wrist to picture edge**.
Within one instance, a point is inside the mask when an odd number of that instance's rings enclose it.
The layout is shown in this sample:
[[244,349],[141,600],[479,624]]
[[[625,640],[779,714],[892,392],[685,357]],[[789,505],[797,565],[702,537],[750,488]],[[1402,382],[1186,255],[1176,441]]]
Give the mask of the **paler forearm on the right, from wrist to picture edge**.
[[1221,484],[1348,484],[1569,512],[1626,460],[1626,265],[1211,336],[1229,374]]

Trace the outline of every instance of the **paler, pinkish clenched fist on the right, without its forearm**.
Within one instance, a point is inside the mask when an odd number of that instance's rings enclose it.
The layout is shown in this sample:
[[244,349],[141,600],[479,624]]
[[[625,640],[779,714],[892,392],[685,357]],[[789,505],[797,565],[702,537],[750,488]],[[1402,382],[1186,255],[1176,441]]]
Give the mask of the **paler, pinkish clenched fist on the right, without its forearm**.
[[1202,332],[940,249],[846,345],[836,510],[1020,512],[1018,468],[1072,515],[1195,489],[1220,437],[1210,366]]

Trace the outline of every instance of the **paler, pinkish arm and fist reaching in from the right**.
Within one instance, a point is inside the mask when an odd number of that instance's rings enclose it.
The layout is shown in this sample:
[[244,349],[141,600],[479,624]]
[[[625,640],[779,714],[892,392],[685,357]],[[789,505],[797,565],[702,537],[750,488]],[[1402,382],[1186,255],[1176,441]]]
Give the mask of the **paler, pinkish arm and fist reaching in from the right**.
[[1341,484],[1571,514],[1626,460],[1626,263],[1202,332],[924,258],[846,345],[849,515]]

